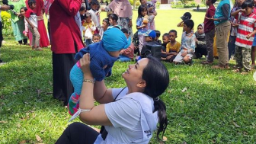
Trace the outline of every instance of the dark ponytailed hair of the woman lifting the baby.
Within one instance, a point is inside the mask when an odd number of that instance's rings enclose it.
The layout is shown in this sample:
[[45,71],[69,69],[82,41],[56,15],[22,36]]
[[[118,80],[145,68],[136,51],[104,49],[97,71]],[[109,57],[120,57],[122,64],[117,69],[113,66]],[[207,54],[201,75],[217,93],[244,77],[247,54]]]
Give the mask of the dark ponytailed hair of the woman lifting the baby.
[[161,101],[158,96],[160,96],[169,84],[169,73],[166,67],[155,57],[148,56],[149,62],[142,72],[142,79],[146,81],[146,88],[144,94],[149,95],[149,97],[154,99],[155,111],[158,110],[158,131],[156,133],[159,139],[159,133],[162,132],[162,136],[165,133],[168,119],[166,116],[166,106],[163,101]]

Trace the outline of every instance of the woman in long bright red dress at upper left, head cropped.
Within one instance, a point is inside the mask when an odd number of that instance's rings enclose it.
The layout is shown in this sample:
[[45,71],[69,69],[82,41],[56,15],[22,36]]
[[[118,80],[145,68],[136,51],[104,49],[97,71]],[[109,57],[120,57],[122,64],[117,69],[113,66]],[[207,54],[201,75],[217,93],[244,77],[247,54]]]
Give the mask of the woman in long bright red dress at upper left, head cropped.
[[[37,7],[34,8],[34,13],[37,14],[38,32],[40,34],[40,47],[47,47],[50,45],[49,38],[46,33],[46,27],[43,22],[44,2],[43,0],[36,0]],[[27,0],[26,0],[27,5]],[[27,5],[28,8],[28,5]]]

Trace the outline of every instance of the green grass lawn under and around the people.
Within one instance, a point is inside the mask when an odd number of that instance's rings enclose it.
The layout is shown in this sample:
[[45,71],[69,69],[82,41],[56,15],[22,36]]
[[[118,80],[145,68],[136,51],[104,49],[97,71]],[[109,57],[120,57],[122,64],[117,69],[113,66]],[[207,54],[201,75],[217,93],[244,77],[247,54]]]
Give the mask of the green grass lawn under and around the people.
[[[162,33],[177,28],[183,13],[159,11],[156,26]],[[192,18],[197,16],[193,14]],[[200,23],[199,19],[195,21]],[[1,59],[7,63],[0,66],[0,143],[56,142],[70,124],[70,116],[52,97],[50,49],[32,51],[29,46],[6,40]],[[170,85],[161,97],[169,122],[165,143],[256,143],[253,72],[240,75],[232,69],[211,69],[200,61],[196,59],[193,66],[164,62],[170,74]],[[130,63],[115,62],[113,75],[106,78],[108,88],[125,86],[121,74]],[[159,142],[154,136],[150,143]]]

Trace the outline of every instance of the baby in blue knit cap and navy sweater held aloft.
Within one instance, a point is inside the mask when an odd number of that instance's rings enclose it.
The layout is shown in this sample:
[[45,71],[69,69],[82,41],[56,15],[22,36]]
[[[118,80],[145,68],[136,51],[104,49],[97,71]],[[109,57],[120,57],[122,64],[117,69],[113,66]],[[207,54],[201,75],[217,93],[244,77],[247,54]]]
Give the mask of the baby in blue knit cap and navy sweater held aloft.
[[110,28],[104,32],[101,42],[92,43],[75,55],[75,59],[79,60],[85,53],[90,53],[90,69],[94,79],[83,78],[83,72],[80,69],[79,61],[70,71],[70,80],[75,91],[69,99],[69,114],[73,115],[78,112],[71,118],[71,120],[81,112],[79,109],[79,96],[81,94],[82,83],[94,83],[94,81],[101,82],[106,76],[110,76],[112,73],[112,66],[114,65],[114,62],[117,61],[120,51],[126,49],[128,46],[130,46],[130,39],[127,40],[121,30]]

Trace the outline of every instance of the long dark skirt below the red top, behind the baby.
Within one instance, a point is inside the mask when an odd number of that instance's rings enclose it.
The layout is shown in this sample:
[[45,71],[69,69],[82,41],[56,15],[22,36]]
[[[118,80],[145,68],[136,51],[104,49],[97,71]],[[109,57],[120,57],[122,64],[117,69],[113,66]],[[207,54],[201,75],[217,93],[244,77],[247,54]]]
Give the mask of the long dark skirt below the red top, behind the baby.
[[53,98],[69,103],[74,88],[69,79],[69,73],[75,65],[75,53],[53,53]]

